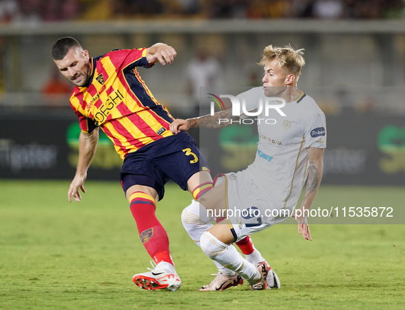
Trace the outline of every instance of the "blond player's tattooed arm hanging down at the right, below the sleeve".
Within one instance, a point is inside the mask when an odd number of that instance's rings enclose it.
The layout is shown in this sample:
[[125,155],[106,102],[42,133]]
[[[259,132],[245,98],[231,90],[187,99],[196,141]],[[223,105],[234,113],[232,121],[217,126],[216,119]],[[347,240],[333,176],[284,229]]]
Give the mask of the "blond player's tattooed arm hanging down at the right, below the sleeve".
[[[317,147],[308,148],[308,158],[309,158],[309,167],[308,167],[308,179],[306,180],[306,190],[304,199],[301,203],[301,213],[297,213],[297,223],[298,223],[298,233],[307,239],[312,240],[307,216],[309,209],[312,205],[312,202],[315,199],[315,195],[319,189],[319,184],[321,184],[322,174],[323,174],[323,151],[324,149],[319,149]],[[308,211],[305,211],[308,210]]]

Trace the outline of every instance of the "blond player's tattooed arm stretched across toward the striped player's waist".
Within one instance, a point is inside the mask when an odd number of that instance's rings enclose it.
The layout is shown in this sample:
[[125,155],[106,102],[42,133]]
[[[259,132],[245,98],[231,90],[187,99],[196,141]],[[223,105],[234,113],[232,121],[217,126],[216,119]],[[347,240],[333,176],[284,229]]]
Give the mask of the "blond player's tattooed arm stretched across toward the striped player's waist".
[[177,134],[180,130],[189,130],[192,127],[203,128],[222,128],[232,125],[232,123],[238,123],[240,117],[232,115],[232,108],[219,111],[214,115],[204,115],[202,117],[195,117],[193,119],[175,119],[170,124],[170,131],[173,134]]

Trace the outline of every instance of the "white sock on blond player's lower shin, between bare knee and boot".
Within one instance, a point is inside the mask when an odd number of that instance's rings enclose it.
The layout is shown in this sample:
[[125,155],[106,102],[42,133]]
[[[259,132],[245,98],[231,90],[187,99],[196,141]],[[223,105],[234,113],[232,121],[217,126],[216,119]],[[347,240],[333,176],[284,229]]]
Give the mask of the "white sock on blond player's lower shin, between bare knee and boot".
[[201,250],[212,260],[217,261],[223,267],[226,267],[249,283],[256,283],[261,275],[255,265],[244,259],[234,246],[228,246],[214,235],[205,232],[200,238]]

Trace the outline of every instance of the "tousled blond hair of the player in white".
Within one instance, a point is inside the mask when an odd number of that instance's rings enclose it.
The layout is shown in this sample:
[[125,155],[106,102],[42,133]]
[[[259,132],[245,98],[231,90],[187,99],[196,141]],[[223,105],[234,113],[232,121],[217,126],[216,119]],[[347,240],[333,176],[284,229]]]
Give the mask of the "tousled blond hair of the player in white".
[[259,66],[265,67],[267,62],[278,60],[280,68],[288,73],[299,76],[302,71],[302,67],[305,65],[304,49],[293,49],[291,45],[286,47],[273,47],[269,45],[265,47],[262,54],[262,59],[258,62]]

